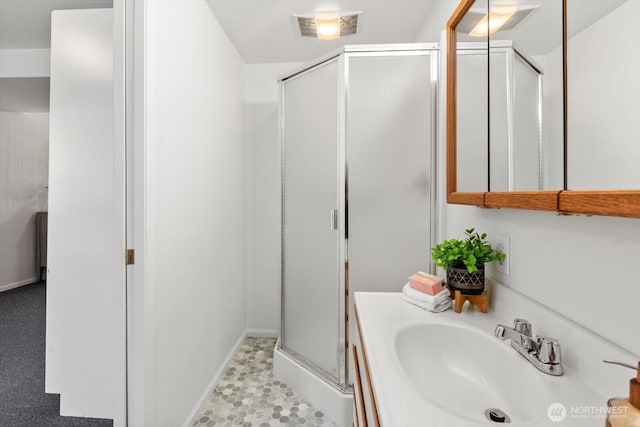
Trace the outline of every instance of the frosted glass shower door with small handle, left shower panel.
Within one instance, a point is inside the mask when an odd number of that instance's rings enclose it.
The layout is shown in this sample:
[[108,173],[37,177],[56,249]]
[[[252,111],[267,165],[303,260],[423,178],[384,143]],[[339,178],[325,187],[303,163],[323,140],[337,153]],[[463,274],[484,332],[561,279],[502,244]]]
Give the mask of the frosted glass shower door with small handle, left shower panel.
[[282,348],[340,375],[337,60],[282,83]]

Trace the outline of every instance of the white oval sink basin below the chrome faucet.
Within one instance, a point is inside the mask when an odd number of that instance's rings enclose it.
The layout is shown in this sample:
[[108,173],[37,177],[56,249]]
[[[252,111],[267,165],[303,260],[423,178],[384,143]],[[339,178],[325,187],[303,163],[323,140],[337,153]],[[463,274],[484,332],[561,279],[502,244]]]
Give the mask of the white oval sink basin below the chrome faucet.
[[509,345],[465,324],[421,323],[396,333],[400,365],[415,391],[432,405],[475,422],[498,409],[511,422],[545,414],[550,381]]

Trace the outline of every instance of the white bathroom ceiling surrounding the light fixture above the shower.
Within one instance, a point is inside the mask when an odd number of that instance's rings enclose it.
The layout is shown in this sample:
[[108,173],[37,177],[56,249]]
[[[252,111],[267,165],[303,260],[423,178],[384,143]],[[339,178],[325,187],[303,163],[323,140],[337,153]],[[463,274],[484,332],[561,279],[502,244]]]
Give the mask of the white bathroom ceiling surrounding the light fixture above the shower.
[[[344,44],[416,41],[442,0],[206,0],[247,63],[306,62]],[[358,32],[338,40],[302,37],[295,13],[361,11]],[[434,40],[436,41],[436,40]]]

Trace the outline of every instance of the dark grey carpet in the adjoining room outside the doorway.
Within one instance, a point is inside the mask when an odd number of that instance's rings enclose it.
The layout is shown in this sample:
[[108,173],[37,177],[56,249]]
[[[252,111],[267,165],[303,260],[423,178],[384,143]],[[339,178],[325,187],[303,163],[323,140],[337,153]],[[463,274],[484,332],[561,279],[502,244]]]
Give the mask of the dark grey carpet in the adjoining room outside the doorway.
[[61,417],[60,397],[44,392],[43,282],[0,292],[0,427],[103,427],[113,421]]

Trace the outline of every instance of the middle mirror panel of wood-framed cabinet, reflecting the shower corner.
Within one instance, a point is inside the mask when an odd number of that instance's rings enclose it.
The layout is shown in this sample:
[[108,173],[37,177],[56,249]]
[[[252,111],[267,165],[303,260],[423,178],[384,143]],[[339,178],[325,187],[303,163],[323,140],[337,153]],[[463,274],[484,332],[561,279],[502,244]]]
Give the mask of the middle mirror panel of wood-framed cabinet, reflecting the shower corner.
[[562,190],[562,2],[490,0],[488,17],[489,189]]

